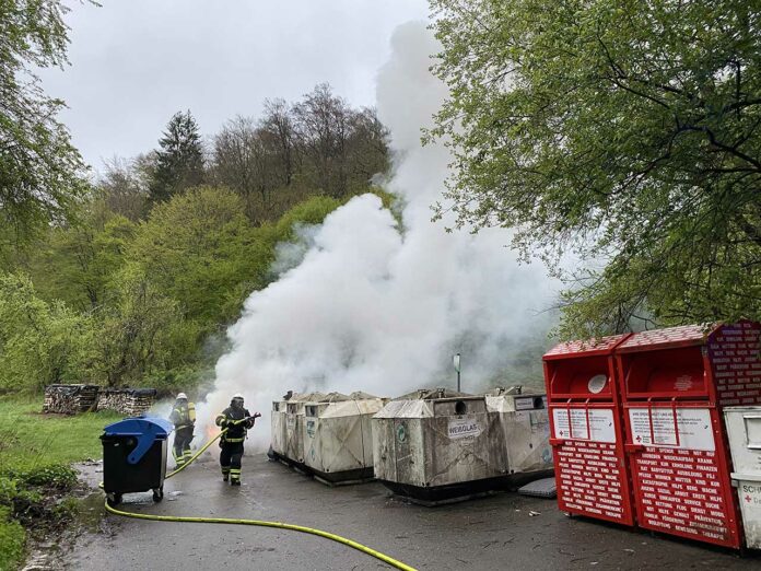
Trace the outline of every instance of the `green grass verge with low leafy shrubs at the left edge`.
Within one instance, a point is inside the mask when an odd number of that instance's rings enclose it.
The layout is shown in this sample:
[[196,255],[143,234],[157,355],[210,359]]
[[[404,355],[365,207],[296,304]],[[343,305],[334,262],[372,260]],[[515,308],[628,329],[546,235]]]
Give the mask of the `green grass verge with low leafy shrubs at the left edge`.
[[[16,569],[25,555],[25,526],[70,520],[77,500],[73,462],[102,456],[106,424],[115,412],[43,415],[43,397],[0,399],[0,571]],[[62,498],[62,499],[61,499]]]

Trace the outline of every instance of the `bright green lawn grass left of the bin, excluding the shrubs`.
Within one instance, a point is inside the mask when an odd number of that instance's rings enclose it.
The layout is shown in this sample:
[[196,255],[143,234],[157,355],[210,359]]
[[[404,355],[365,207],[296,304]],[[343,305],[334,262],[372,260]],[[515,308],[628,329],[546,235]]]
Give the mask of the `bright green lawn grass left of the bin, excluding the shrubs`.
[[[122,418],[115,412],[43,415],[42,403],[42,396],[0,398],[0,488],[13,487],[12,492],[0,489],[0,571],[16,569],[25,555],[24,528],[11,517],[11,505],[3,505],[3,496],[31,498],[39,493],[35,478],[49,485],[61,466],[99,458],[103,428]],[[17,479],[20,474],[27,476]]]

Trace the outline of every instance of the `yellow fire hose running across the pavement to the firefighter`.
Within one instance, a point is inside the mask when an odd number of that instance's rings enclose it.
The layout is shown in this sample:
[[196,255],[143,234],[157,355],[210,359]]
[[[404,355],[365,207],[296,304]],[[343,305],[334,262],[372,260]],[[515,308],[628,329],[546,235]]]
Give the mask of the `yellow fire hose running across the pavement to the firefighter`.
[[[188,462],[186,462],[183,466],[177,468],[176,470],[169,473],[166,475],[166,478],[172,478],[176,474],[179,474],[183,471],[187,466],[194,462],[198,456],[203,454],[206,450],[211,446],[222,434],[224,434],[227,431],[227,429],[223,430],[220,432],[216,436],[211,439],[209,442],[207,442],[201,450],[199,450],[196,454],[194,454]],[[103,482],[101,482],[101,487],[103,487]],[[332,541],[337,541],[339,544],[343,544],[346,546],[349,546],[353,549],[356,549],[359,551],[362,551],[363,553],[366,553],[371,557],[374,557],[376,559],[379,559],[380,561],[388,563],[391,567],[395,567],[397,569],[402,569],[403,571],[417,571],[413,567],[410,567],[406,563],[402,563],[401,561],[397,561],[396,559],[388,557],[387,555],[382,553],[380,551],[376,551],[375,549],[371,549],[367,546],[364,546],[362,544],[358,544],[356,541],[352,541],[351,539],[347,539],[346,537],[341,537],[340,535],[331,534],[329,532],[324,532],[321,529],[315,529],[314,527],[306,527],[304,525],[293,525],[293,524],[286,524],[286,523],[281,523],[281,522],[266,522],[262,520],[236,520],[236,518],[231,518],[231,517],[180,517],[180,516],[174,516],[174,515],[151,515],[151,514],[143,514],[143,513],[133,513],[133,512],[122,512],[121,510],[117,510],[113,505],[108,503],[108,500],[105,502],[106,505],[106,511],[109,513],[113,513],[115,515],[122,515],[125,517],[134,517],[137,520],[153,520],[156,522],[184,522],[184,523],[215,523],[215,524],[231,524],[231,525],[258,525],[260,527],[276,527],[278,529],[290,529],[292,532],[301,532],[304,534],[311,534],[311,535],[316,535],[319,537],[325,537],[326,539],[330,539]]]

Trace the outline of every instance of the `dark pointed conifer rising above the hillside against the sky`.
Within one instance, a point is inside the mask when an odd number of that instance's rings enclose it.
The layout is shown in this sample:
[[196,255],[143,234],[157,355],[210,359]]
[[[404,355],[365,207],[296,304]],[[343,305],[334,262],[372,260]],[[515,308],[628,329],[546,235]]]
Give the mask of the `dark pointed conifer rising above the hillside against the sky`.
[[153,202],[203,182],[203,145],[198,124],[190,112],[176,113],[159,140],[156,164],[150,185]]

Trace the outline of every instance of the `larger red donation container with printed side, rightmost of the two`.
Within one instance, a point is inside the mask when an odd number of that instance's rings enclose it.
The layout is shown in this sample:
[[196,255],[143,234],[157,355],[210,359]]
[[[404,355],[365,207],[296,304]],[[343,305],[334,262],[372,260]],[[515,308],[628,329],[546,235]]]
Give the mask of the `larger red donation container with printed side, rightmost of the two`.
[[641,527],[740,547],[722,406],[761,403],[760,333],[672,327],[616,349]]

